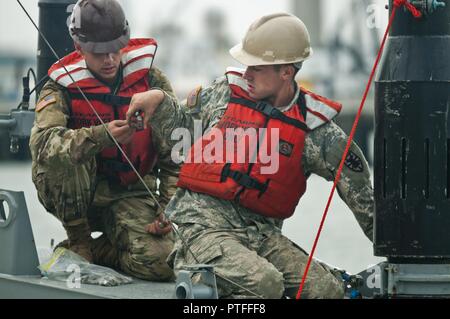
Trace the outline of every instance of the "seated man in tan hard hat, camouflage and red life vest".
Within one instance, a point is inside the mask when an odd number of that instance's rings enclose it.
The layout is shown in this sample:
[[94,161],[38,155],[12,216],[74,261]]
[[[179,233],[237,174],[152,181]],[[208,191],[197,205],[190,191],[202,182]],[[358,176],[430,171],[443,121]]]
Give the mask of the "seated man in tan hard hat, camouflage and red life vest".
[[[169,257],[175,271],[213,265],[220,297],[294,298],[308,254],[281,228],[311,174],[334,179],[347,141],[333,122],[341,105],[296,84],[313,51],[305,25],[295,16],[261,17],[230,53],[247,68],[228,69],[211,86],[192,91],[181,107],[161,91],[135,95],[128,116],[143,110],[144,123],[165,137],[165,147],[175,149],[172,133],[182,127],[194,132],[194,121],[202,121],[203,135],[183,154],[179,188],[166,207],[189,245],[177,240]],[[256,142],[251,132],[257,132]],[[227,143],[229,148],[221,146]],[[269,148],[271,166],[262,156]],[[218,156],[230,150],[231,155]],[[372,240],[373,190],[367,162],[355,144],[337,187]],[[303,297],[343,295],[336,272],[314,260]]]

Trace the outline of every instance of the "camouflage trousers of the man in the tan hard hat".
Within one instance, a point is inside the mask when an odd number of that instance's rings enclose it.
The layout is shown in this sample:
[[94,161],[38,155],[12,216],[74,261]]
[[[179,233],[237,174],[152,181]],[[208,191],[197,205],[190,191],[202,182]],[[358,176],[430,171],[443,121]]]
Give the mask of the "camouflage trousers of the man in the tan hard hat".
[[[185,265],[213,265],[222,298],[295,298],[308,260],[308,254],[282,234],[257,235],[251,227],[235,232],[204,231],[191,242],[190,250],[197,260],[188,250],[177,250],[175,272]],[[330,269],[313,261],[302,298],[343,297],[342,282]]]

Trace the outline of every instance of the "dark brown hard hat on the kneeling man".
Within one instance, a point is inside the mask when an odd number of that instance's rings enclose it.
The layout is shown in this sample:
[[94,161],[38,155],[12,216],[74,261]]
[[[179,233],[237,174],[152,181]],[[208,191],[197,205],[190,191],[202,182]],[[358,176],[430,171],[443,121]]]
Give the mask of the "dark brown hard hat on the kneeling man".
[[130,28],[116,0],[78,0],[70,16],[70,36],[83,50],[112,53],[130,40]]

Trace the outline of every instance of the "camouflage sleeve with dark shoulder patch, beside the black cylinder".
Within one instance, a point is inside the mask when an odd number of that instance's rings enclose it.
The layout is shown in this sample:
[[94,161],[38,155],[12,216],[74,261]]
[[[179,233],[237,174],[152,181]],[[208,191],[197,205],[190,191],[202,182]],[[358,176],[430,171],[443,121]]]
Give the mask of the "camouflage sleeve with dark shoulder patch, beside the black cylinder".
[[[334,181],[347,144],[347,135],[334,122],[310,132],[305,140],[302,160],[305,174]],[[373,240],[373,188],[367,161],[353,143],[337,185],[339,196],[352,210],[365,235]]]

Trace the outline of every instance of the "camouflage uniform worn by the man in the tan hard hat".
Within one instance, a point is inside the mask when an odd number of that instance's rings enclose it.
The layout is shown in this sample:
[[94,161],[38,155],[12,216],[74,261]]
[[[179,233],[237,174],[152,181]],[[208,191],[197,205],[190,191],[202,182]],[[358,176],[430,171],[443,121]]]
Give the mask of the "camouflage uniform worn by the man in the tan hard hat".
[[[173,129],[186,127],[193,134],[195,119],[202,119],[203,132],[213,127],[227,108],[230,92],[226,78],[219,78],[211,87],[201,90],[198,96],[190,96],[188,108],[185,105],[178,107],[167,97],[154,113],[151,125],[157,135],[165,137],[164,146],[173,147],[177,142],[170,139]],[[290,105],[297,100],[298,94],[297,90]],[[333,122],[307,134],[301,163],[305,175],[314,173],[328,181],[334,180],[346,141],[346,134]],[[355,144],[351,152],[338,192],[372,240],[374,202],[369,169]],[[281,234],[282,220],[258,215],[233,201],[185,189],[177,190],[166,207],[166,213],[178,225],[190,247],[189,251],[181,240],[177,240],[169,257],[169,264],[175,271],[188,264],[214,265],[219,276],[221,297],[254,298],[255,295],[249,291],[264,298],[295,297],[308,254]],[[230,279],[247,290],[220,277]],[[342,298],[343,293],[342,281],[333,271],[313,261],[303,296]]]

